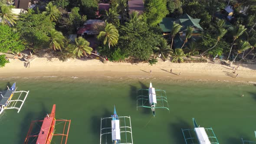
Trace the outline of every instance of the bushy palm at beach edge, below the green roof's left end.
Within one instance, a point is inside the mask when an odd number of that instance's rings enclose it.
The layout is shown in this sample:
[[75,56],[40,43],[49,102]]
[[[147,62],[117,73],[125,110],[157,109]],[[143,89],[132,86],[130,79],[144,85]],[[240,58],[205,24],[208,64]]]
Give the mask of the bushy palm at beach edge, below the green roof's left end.
[[170,46],[168,46],[167,41],[164,38],[160,39],[159,46],[156,47],[157,52],[155,52],[155,55],[161,54],[163,59],[165,60],[165,55],[169,54],[171,52]]

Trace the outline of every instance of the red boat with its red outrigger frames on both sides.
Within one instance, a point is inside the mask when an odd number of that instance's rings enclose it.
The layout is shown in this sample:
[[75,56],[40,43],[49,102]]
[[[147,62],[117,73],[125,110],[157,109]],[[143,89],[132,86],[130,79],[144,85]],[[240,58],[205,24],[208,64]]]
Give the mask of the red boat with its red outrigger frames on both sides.
[[[63,138],[64,136],[66,137],[66,141],[64,144],[67,143],[67,140],[68,140],[68,135],[69,135],[69,127],[70,127],[70,122],[71,120],[56,120],[55,119],[55,109],[56,109],[56,105],[54,104],[53,105],[53,109],[52,109],[52,113],[50,115],[46,115],[46,117],[43,119],[43,120],[39,120],[39,121],[32,121],[32,123],[30,124],[30,129],[28,131],[28,134],[26,136],[26,139],[25,139],[25,142],[24,144],[28,144],[30,142],[30,138],[31,137],[34,137],[33,140],[35,140],[35,138],[37,137],[37,140],[36,140],[36,143],[35,144],[50,144],[51,141],[52,141],[52,138],[53,136],[55,135],[59,135],[59,136],[62,136],[62,139],[61,139],[61,143],[62,144],[62,141],[63,141]],[[54,130],[55,130],[55,124],[56,124],[56,121],[63,121],[65,122],[64,124],[64,128],[63,128],[63,133],[60,134],[54,134]],[[36,123],[36,122],[43,122],[42,126],[41,126],[41,129],[39,131],[38,134],[36,135],[30,135],[31,132],[33,131],[33,125]],[[66,131],[66,134],[65,133],[65,128],[66,128],[66,123],[68,122],[68,129]],[[31,142],[30,142],[31,143]],[[29,143],[29,144],[30,144]]]

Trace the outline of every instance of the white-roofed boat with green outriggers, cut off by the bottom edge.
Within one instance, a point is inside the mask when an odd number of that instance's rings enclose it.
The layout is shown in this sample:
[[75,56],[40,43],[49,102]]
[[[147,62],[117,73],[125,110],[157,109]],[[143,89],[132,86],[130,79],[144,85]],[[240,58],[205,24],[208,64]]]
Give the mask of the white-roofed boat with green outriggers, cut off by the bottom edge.
[[193,118],[194,129],[181,129],[186,144],[219,144],[212,128],[203,128],[197,125]]

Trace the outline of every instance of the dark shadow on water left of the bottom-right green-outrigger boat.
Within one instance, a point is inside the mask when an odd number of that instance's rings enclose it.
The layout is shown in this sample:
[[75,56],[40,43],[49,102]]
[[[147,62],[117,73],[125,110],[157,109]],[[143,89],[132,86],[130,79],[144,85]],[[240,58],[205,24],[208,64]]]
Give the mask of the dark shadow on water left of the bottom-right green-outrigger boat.
[[174,144],[185,144],[181,129],[193,129],[193,127],[181,118],[178,118],[176,123],[171,123],[170,134],[172,134],[171,137],[174,138],[172,139]]

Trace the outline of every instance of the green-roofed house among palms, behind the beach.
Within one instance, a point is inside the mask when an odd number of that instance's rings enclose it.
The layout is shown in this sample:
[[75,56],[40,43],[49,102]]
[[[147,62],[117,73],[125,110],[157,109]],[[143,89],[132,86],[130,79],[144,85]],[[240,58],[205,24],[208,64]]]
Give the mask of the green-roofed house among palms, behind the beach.
[[186,30],[188,26],[192,26],[194,28],[194,31],[191,36],[192,39],[196,39],[199,36],[199,34],[203,31],[203,28],[199,24],[200,19],[194,19],[188,14],[184,14],[178,17],[177,19],[174,19],[172,17],[163,18],[161,23],[159,23],[159,26],[163,31],[163,35],[169,35],[171,33],[174,22],[182,26],[180,31],[178,32],[179,34],[174,37],[174,48],[180,47],[182,43],[184,43]]

